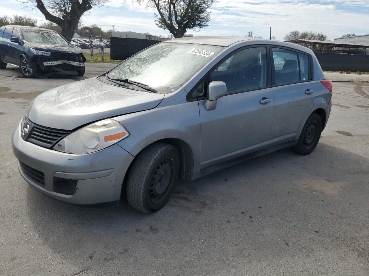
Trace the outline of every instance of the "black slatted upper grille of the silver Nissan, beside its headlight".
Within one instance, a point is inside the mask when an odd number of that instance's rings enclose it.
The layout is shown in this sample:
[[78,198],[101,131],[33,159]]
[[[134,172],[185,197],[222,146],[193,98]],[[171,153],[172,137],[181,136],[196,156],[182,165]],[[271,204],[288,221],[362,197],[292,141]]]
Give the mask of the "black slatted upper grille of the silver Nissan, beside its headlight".
[[42,146],[44,148],[52,148],[56,142],[60,141],[66,135],[70,134],[71,131],[68,130],[56,130],[53,128],[40,127],[31,123],[30,120],[26,120],[26,125],[30,125],[29,133],[22,136],[25,141],[31,142]]

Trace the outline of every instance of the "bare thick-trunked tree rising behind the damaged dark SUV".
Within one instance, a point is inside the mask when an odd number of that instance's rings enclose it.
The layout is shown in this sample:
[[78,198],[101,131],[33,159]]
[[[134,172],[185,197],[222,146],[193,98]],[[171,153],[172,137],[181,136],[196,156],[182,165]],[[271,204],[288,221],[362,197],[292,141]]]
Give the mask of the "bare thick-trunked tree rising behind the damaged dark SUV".
[[28,7],[38,8],[46,20],[59,25],[62,35],[70,41],[82,15],[92,7],[104,6],[108,0],[18,0]]

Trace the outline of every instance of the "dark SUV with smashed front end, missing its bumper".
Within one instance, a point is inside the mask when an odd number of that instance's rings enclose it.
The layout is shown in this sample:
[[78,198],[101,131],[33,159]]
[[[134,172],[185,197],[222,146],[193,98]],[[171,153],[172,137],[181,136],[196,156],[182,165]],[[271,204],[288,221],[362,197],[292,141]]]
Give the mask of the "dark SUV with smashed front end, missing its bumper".
[[86,58],[82,49],[58,32],[38,27],[0,27],[0,69],[7,63],[20,67],[24,77],[49,76],[52,73],[83,76]]

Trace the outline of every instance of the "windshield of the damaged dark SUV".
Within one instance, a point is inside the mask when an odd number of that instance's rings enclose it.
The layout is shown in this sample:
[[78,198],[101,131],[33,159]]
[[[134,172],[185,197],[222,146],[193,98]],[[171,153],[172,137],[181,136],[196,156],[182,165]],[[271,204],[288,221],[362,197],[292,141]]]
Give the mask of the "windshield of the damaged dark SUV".
[[68,42],[55,31],[22,29],[23,37],[28,42],[68,45]]

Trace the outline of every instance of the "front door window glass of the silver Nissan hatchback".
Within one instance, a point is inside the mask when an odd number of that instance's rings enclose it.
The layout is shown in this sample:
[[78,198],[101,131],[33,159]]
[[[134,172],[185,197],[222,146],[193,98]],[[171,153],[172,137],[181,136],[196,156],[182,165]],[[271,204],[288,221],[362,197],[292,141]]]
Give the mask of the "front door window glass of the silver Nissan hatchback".
[[211,73],[211,81],[224,81],[227,93],[266,86],[266,48],[241,50],[226,59]]

